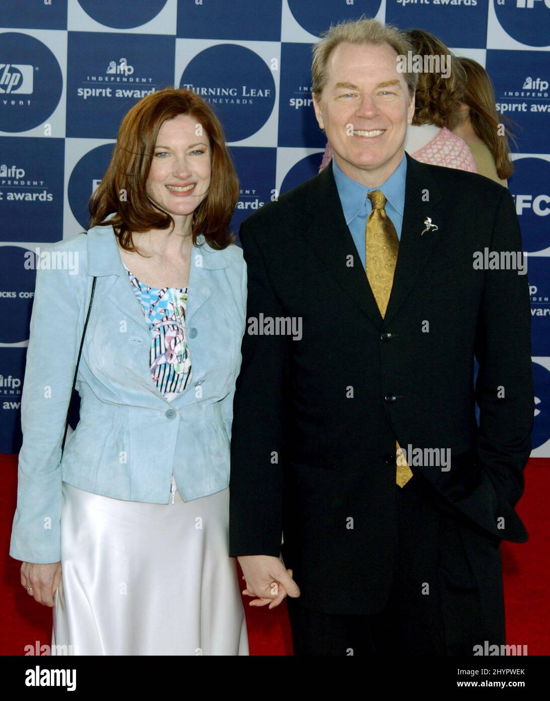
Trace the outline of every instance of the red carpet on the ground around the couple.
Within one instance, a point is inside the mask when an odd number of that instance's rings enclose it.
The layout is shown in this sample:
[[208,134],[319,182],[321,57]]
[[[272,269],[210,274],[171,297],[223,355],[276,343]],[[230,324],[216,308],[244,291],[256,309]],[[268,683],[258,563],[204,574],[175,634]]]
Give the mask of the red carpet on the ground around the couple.
[[[50,644],[52,611],[36,604],[20,585],[20,562],[9,557],[11,522],[17,494],[17,456],[0,455],[4,477],[0,510],[3,617],[0,654],[24,655],[25,646]],[[527,543],[503,543],[507,643],[527,645],[529,655],[550,654],[548,580],[548,487],[550,459],[533,458],[526,468],[526,490],[518,512],[530,533]],[[239,574],[239,577],[241,574]],[[244,582],[243,582],[244,588]],[[269,611],[250,608],[243,597],[251,655],[290,655],[292,641],[286,605]]]

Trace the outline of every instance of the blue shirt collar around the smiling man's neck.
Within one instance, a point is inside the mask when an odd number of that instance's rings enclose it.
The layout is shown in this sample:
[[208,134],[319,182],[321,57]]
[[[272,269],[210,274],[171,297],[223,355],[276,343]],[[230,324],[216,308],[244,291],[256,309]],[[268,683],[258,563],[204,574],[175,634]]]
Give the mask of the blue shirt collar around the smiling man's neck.
[[360,213],[365,205],[367,193],[373,190],[381,190],[390,205],[403,216],[405,182],[407,179],[407,157],[405,154],[403,154],[400,164],[390,177],[378,187],[365,187],[365,185],[358,183],[339,168],[334,158],[331,160],[332,174],[334,175],[334,181],[336,182],[342,209],[344,210],[344,217],[346,217],[346,224],[349,224]]

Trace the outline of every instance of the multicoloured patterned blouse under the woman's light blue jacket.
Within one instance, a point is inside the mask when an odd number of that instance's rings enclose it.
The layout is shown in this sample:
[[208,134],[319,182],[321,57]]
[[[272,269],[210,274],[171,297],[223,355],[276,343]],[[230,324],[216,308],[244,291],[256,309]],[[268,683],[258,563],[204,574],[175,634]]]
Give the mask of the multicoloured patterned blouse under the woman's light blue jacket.
[[[185,310],[188,287],[149,287],[142,283],[124,261],[128,278],[151,332],[149,353],[153,382],[168,401],[185,390],[191,381],[191,359],[185,340]],[[174,472],[171,475],[172,503],[176,492]]]

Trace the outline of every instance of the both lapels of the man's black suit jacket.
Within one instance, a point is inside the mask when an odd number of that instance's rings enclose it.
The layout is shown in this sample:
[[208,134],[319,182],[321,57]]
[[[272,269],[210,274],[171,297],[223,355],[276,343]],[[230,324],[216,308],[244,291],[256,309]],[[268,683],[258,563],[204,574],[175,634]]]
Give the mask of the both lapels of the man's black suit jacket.
[[[332,165],[311,179],[305,204],[308,219],[302,233],[339,285],[378,329],[395,316],[407,299],[443,228],[437,218],[436,205],[442,200],[437,182],[423,163],[407,153],[405,156],[407,179],[400,249],[384,320],[346,224]],[[426,217],[432,217],[439,230],[421,235]],[[353,266],[346,264],[350,256]]]

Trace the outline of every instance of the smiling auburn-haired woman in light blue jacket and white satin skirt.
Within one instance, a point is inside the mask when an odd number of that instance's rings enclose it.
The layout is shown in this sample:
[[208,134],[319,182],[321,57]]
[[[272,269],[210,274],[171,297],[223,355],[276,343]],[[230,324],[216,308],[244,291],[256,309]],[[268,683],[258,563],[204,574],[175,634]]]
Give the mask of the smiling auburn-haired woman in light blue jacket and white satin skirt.
[[53,654],[248,655],[228,555],[238,197],[209,105],[152,93],[122,121],[89,231],[54,246],[77,274],[37,273],[10,555],[54,608]]

